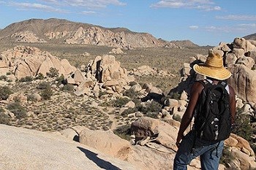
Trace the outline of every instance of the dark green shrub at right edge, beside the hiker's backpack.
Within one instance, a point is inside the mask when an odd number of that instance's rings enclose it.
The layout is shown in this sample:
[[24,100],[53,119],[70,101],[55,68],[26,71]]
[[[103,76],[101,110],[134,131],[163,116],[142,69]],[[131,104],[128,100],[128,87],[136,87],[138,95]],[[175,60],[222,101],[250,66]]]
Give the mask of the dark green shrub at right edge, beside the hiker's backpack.
[[249,115],[242,114],[243,110],[244,108],[241,108],[236,111],[235,125],[233,126],[232,133],[250,141],[250,136],[253,134],[250,117]]

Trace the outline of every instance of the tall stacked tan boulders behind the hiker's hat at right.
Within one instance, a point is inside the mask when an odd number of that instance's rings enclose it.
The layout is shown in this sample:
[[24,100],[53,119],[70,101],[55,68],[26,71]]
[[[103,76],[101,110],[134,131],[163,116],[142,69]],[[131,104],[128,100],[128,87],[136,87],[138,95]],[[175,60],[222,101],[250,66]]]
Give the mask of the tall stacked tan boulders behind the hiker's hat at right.
[[[256,104],[256,72],[255,72],[255,52],[256,46],[253,45],[252,40],[246,40],[244,38],[236,38],[230,44],[221,42],[217,47],[212,48],[211,51],[221,53],[223,55],[223,62],[227,69],[230,70],[232,76],[227,80],[229,84],[234,88],[238,98],[243,101],[252,102]],[[202,79],[200,75],[195,74],[192,70],[192,66],[195,63],[204,63],[206,61],[206,55],[197,55],[191,58],[191,63],[184,64],[182,72],[180,90],[189,91],[189,87],[192,82],[197,79]]]

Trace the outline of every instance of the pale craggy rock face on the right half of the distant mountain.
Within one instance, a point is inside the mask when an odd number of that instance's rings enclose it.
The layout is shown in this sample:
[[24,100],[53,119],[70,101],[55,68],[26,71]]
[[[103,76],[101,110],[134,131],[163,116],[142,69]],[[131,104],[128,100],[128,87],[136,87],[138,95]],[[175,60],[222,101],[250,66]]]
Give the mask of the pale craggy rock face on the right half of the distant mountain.
[[113,32],[96,26],[78,28],[70,33],[67,44],[103,45],[131,49],[132,47],[157,47],[163,46],[163,42],[155,39],[151,34],[137,34],[128,32]]

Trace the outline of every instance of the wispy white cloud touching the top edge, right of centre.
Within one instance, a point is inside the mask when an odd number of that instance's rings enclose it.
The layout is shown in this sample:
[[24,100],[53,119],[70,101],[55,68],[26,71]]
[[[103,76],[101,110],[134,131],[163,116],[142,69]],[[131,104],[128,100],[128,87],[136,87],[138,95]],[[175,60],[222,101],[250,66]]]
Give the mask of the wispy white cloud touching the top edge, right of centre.
[[202,9],[205,11],[220,10],[221,7],[214,7],[214,2],[210,0],[163,0],[155,4],[151,4],[151,7],[156,8],[189,8],[189,9]]

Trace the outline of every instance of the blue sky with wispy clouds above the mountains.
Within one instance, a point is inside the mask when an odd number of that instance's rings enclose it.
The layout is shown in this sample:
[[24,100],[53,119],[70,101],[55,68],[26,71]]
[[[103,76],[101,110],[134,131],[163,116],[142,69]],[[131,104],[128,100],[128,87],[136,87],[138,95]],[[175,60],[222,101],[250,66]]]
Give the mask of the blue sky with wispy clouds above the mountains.
[[0,0],[0,28],[60,18],[217,46],[256,33],[255,7],[255,0]]

